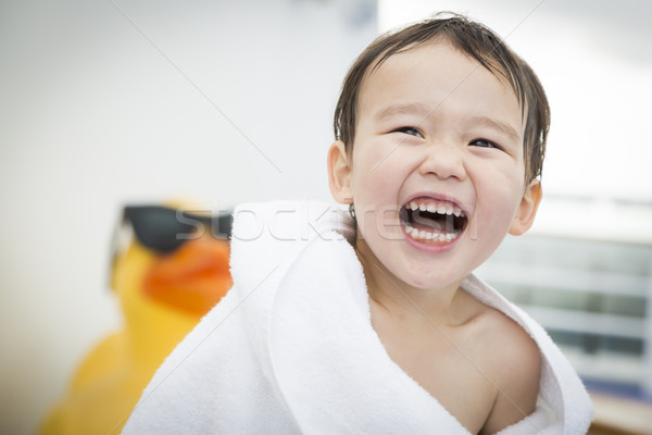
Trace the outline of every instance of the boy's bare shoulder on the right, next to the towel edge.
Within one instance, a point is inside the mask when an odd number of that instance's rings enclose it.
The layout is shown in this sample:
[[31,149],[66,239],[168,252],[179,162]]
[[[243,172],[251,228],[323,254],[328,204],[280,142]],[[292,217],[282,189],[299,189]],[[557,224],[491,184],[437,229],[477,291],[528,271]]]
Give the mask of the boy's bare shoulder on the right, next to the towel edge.
[[493,407],[480,434],[493,434],[535,411],[541,352],[529,334],[502,312],[487,308],[480,318],[484,366],[497,388]]

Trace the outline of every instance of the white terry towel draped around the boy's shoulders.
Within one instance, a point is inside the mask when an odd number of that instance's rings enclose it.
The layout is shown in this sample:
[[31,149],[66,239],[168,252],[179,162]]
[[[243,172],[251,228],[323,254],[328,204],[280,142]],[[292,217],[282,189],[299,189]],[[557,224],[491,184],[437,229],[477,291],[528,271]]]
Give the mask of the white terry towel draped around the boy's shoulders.
[[[304,201],[235,217],[233,289],[159,369],[124,434],[468,434],[372,328],[348,214]],[[475,276],[463,288],[543,357],[537,411],[501,435],[585,434],[589,397],[546,332]]]

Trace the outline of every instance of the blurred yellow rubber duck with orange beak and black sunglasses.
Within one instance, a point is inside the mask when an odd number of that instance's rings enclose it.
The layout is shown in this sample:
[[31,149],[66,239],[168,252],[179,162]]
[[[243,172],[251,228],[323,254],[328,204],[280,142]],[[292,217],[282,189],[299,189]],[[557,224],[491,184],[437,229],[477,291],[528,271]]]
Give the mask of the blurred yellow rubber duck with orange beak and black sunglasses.
[[86,357],[39,434],[120,434],[165,357],[230,288],[228,240],[213,236],[205,215],[179,212],[125,208],[121,228],[135,237],[117,248],[111,268],[124,328]]

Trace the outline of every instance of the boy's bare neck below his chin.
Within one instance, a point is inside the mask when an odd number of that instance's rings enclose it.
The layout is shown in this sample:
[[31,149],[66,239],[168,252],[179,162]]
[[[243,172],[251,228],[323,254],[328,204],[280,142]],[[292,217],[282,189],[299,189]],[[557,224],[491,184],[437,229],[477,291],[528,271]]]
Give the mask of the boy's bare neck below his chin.
[[386,314],[405,322],[435,321],[450,326],[468,320],[466,299],[473,297],[460,291],[464,278],[442,288],[417,288],[385,268],[364,240],[356,240],[355,252],[364,270],[369,303],[375,303]]

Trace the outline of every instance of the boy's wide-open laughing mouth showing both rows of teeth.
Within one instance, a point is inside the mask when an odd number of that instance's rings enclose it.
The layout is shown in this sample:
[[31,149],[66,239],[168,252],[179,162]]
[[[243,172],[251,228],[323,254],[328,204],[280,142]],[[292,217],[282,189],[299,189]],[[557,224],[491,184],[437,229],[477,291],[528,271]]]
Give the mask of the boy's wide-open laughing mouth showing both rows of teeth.
[[464,232],[468,219],[459,206],[434,198],[415,198],[401,207],[401,226],[422,244],[449,244]]

